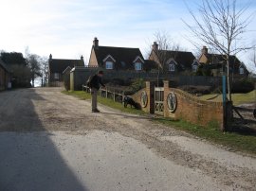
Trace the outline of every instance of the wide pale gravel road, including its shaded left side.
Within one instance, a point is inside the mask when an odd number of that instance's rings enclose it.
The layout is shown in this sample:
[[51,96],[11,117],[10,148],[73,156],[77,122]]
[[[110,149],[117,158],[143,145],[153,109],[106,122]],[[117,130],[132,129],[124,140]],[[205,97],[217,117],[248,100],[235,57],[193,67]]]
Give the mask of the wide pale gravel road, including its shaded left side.
[[58,88],[0,93],[0,190],[256,190],[256,159]]

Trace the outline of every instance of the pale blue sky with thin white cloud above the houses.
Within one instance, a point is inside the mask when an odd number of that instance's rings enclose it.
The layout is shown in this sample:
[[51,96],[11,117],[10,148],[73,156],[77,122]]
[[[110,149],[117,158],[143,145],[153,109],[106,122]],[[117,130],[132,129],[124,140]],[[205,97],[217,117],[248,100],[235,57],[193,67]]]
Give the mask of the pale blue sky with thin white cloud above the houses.
[[[53,59],[88,61],[94,37],[100,45],[139,47],[145,54],[155,41],[156,31],[167,32],[175,43],[198,52],[190,43],[188,11],[200,0],[0,0],[0,50],[31,53]],[[243,0],[238,0],[243,3]],[[255,12],[251,1],[248,12]],[[187,3],[187,6],[186,6]],[[247,26],[245,37],[256,42],[256,18]],[[249,61],[252,51],[240,60],[256,72]]]

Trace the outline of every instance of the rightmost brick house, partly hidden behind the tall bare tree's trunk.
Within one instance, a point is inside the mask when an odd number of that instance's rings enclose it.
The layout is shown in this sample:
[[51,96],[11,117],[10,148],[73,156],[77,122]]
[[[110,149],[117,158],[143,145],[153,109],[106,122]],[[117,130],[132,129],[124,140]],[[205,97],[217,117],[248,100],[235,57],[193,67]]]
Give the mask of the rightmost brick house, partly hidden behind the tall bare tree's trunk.
[[[222,76],[227,72],[225,55],[210,54],[207,46],[203,46],[202,53],[198,61],[203,67],[209,68],[215,77]],[[236,56],[229,57],[229,71],[236,77],[247,77],[249,74],[247,66],[243,62],[239,61]]]

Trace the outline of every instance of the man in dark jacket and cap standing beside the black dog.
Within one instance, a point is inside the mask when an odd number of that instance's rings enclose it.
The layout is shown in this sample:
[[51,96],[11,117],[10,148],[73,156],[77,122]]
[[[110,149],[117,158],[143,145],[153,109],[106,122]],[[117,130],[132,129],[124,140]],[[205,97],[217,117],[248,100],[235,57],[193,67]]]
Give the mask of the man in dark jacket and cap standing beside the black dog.
[[97,96],[100,87],[105,87],[102,82],[103,71],[99,71],[98,74],[94,75],[91,79],[91,95],[92,95],[92,113],[100,113],[97,107]]

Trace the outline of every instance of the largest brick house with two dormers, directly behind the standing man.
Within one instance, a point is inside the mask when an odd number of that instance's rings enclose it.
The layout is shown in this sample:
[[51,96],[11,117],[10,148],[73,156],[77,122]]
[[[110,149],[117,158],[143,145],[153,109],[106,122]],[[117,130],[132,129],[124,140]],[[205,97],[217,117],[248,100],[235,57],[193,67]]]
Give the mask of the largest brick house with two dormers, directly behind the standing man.
[[93,41],[89,67],[105,70],[145,70],[145,60],[139,48],[101,46],[97,38]]

